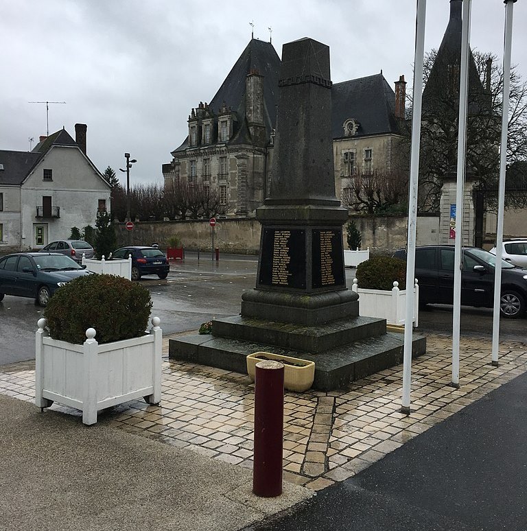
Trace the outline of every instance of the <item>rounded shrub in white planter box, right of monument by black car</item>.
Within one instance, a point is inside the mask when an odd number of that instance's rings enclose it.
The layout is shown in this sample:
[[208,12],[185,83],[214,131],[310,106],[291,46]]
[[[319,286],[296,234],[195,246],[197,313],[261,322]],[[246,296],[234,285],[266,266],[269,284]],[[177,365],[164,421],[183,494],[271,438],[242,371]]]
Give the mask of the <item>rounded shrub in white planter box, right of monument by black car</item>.
[[[406,316],[406,261],[373,257],[359,264],[353,291],[359,294],[361,316],[386,319],[388,327],[403,327]],[[419,285],[414,284],[414,326],[419,324]],[[397,329],[397,328],[395,328]]]

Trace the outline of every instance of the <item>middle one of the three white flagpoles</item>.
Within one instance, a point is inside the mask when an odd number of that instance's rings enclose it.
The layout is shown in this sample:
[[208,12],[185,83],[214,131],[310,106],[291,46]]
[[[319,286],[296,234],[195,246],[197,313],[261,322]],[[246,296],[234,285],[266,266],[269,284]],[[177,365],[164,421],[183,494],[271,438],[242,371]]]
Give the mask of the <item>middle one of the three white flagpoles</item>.
[[452,386],[459,387],[459,336],[461,320],[461,271],[463,267],[463,195],[467,147],[471,0],[463,1],[461,64],[459,76],[458,167],[456,182],[456,240],[454,243],[454,311],[452,317]]

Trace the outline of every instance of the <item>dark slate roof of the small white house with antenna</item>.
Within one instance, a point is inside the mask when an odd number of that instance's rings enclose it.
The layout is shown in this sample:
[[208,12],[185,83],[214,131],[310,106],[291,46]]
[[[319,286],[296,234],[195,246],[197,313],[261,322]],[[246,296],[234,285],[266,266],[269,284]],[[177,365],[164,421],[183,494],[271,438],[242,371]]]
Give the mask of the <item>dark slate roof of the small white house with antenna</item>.
[[39,142],[30,152],[0,150],[0,185],[21,185],[40,158],[51,145],[78,145],[65,129],[61,129]]

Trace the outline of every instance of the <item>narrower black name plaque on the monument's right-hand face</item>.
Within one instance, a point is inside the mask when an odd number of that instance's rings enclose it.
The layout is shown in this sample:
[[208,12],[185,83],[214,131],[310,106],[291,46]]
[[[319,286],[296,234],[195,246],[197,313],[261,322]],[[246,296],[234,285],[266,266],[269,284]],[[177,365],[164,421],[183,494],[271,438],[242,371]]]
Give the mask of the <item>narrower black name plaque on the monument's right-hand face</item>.
[[344,284],[342,264],[342,231],[314,229],[312,251],[313,287]]

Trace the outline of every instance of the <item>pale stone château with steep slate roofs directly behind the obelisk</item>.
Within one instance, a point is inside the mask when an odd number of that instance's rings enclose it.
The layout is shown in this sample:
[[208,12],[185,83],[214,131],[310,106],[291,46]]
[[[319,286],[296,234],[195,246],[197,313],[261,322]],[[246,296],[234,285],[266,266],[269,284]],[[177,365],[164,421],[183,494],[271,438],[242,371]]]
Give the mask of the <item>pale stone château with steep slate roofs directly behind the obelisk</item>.
[[[211,102],[191,109],[187,138],[163,164],[165,187],[217,189],[226,215],[254,214],[268,189],[280,64],[271,43],[250,40]],[[355,175],[390,171],[401,139],[405,86],[401,76],[393,91],[382,73],[333,84],[338,197],[344,198]]]

